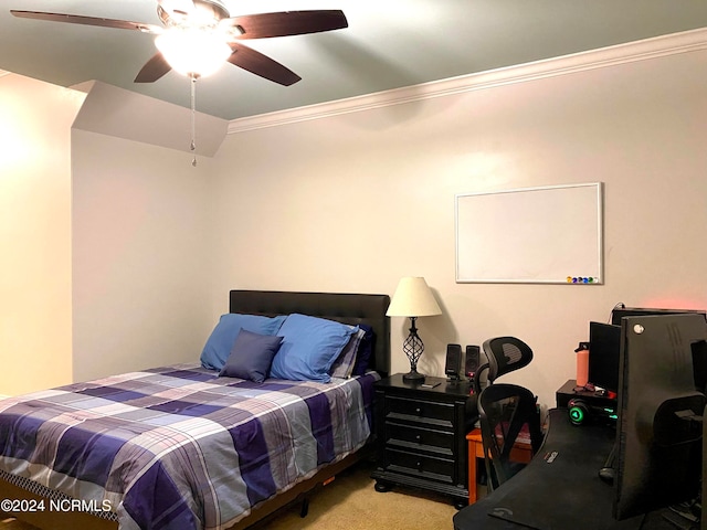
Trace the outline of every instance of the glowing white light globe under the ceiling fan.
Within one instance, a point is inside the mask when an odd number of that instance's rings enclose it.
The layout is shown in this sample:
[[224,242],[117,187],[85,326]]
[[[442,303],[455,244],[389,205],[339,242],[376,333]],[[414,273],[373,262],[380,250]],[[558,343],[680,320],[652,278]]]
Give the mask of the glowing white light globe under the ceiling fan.
[[173,70],[198,77],[213,74],[232,53],[222,36],[202,28],[170,28],[155,45]]

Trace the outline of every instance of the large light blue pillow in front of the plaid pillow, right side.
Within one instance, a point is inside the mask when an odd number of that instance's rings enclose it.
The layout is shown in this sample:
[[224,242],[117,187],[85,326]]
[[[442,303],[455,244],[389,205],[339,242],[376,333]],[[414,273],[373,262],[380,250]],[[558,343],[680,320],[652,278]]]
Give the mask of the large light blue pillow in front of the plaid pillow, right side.
[[328,383],[331,364],[358,329],[325,318],[289,315],[278,331],[283,343],[273,359],[271,378]]

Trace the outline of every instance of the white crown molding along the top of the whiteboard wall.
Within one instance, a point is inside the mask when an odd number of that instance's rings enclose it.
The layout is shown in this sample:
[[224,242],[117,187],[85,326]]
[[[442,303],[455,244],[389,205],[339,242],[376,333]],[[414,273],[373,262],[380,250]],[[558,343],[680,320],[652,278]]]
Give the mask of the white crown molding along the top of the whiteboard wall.
[[365,96],[349,97],[335,102],[238,118],[229,123],[228,134],[232,135],[266,127],[296,124],[298,121],[358,113],[372,108],[482,91],[515,83],[526,83],[528,81],[568,75],[577,72],[615,66],[636,61],[647,61],[706,49],[707,29],[685,31],[588,52],[562,55],[555,59],[535,61],[458,77],[450,77],[447,80],[422,83],[403,88],[377,92]]

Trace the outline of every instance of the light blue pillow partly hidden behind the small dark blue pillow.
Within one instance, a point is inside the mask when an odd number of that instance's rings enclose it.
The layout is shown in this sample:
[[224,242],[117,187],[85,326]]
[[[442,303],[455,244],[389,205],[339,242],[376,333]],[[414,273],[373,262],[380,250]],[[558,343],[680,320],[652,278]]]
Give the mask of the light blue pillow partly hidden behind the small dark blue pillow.
[[229,312],[222,315],[219,324],[211,331],[207,344],[201,352],[201,365],[209,370],[221,370],[231,354],[231,348],[241,329],[260,335],[276,335],[286,316],[262,317],[260,315],[241,315]]

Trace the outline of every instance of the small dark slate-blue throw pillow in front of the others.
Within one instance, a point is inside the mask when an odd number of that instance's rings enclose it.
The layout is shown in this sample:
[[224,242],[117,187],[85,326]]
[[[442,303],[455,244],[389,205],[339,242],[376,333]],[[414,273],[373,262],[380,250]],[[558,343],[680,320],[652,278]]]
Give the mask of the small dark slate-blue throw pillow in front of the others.
[[262,383],[267,377],[273,357],[277,353],[282,341],[282,337],[253,333],[247,329],[241,329],[219,377],[250,379]]

